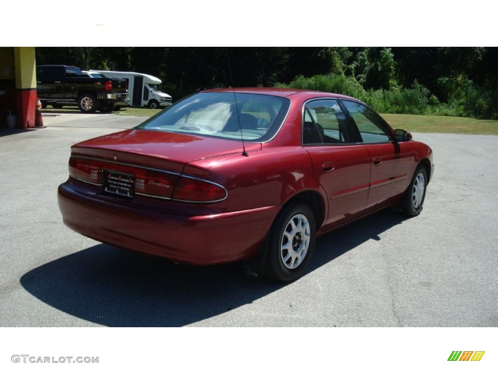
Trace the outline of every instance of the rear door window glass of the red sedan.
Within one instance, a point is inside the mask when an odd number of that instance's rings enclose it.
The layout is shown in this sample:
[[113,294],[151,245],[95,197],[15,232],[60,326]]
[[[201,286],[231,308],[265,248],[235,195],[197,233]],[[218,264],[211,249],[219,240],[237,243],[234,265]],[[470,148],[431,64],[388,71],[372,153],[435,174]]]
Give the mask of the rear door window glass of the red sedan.
[[303,144],[349,143],[346,116],[337,100],[323,99],[304,107]]

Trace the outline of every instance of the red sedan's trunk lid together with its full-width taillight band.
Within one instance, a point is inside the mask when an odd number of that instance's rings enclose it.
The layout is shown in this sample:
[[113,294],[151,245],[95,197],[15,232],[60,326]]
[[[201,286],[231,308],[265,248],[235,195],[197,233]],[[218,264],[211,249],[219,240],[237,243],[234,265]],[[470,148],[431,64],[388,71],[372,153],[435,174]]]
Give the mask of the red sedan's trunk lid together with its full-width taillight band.
[[[250,151],[260,149],[259,143],[246,146]],[[242,152],[242,143],[234,140],[133,129],[75,144],[69,174],[125,197],[137,193],[181,201],[220,201],[226,197],[224,187],[182,176],[184,166]]]

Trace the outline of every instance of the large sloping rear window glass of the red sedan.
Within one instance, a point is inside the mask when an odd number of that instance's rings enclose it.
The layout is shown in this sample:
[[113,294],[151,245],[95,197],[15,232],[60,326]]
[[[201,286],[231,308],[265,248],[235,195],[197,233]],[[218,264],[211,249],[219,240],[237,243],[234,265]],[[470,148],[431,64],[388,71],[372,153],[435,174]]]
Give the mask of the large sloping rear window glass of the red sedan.
[[288,99],[277,96],[201,92],[176,102],[136,128],[264,142],[278,131],[289,105]]

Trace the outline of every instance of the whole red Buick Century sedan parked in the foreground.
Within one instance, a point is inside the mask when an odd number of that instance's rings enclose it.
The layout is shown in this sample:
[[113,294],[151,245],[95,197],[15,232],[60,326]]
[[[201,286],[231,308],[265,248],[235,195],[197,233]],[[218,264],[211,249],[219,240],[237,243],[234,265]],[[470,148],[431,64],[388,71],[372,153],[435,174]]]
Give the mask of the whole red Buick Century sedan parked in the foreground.
[[387,206],[422,210],[431,149],[348,96],[208,90],[71,148],[64,223],[95,240],[196,265],[303,274],[315,238]]

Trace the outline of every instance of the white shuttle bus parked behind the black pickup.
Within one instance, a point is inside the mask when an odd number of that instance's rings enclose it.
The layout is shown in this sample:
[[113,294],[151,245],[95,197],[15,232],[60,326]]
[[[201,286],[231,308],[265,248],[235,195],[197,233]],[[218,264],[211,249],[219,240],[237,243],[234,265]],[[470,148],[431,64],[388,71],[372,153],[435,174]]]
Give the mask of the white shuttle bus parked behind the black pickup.
[[158,85],[159,78],[152,75],[131,71],[89,70],[90,73],[101,73],[108,78],[123,78],[128,81],[128,95],[130,107],[149,107],[158,109],[171,105],[171,96],[161,92]]

